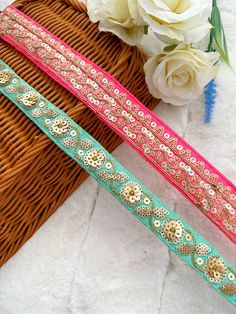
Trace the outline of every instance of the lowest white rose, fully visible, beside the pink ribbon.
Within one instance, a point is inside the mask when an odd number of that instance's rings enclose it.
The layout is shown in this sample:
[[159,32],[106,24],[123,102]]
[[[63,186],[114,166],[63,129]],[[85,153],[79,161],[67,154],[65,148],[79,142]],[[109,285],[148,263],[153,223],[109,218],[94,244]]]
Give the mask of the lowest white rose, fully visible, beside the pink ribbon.
[[203,93],[216,76],[219,59],[216,52],[204,52],[179,44],[150,58],[144,65],[150,93],[167,103],[185,105]]

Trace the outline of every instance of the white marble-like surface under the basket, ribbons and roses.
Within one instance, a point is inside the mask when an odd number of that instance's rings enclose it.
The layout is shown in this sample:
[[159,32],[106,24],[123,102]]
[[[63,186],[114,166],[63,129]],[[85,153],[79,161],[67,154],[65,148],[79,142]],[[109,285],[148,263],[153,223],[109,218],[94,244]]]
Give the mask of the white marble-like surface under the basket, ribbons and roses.
[[[0,9],[11,1],[3,0]],[[236,68],[235,0],[219,1]],[[221,66],[211,125],[203,99],[155,112],[236,181],[236,75]],[[128,145],[114,156],[214,244],[234,266],[235,247]],[[233,314],[111,195],[88,179],[0,270],[0,314]]]

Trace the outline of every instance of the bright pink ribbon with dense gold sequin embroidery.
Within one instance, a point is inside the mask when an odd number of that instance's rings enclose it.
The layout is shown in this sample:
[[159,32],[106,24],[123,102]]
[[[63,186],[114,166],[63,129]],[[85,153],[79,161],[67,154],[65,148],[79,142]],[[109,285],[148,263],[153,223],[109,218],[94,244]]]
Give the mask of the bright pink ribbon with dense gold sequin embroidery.
[[236,187],[116,79],[9,6],[0,37],[82,100],[233,242]]

